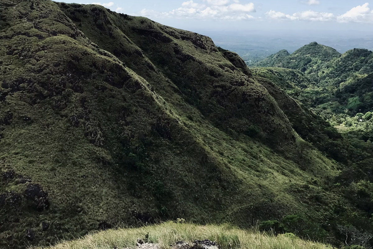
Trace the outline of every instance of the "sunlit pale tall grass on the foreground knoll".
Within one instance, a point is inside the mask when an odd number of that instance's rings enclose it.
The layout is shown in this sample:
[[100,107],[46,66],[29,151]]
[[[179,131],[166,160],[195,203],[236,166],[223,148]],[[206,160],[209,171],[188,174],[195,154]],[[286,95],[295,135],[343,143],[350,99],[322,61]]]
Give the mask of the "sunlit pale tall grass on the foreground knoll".
[[216,241],[222,249],[325,249],[331,247],[320,243],[291,238],[284,235],[277,237],[258,231],[245,231],[229,225],[194,225],[165,222],[140,228],[126,228],[101,231],[89,234],[82,239],[66,241],[53,246],[54,249],[119,249],[134,248],[138,238],[147,242],[159,243],[168,249],[175,242],[182,240],[209,239]]

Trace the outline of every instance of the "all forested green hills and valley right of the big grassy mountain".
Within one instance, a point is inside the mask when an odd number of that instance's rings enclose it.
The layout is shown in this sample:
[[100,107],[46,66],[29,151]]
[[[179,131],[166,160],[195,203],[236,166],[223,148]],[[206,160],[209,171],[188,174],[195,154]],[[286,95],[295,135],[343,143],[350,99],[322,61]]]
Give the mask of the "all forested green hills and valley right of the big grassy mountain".
[[[311,47],[315,46],[319,49],[311,53]],[[308,106],[317,116],[338,129],[338,133],[330,127],[324,129],[325,134],[333,142],[327,142],[327,146],[323,146],[324,142],[320,144],[320,141],[323,141],[322,136],[319,135],[315,140],[314,134],[310,134],[311,137],[302,136],[302,133],[295,128],[305,141],[311,142],[317,149],[344,163],[342,172],[335,178],[334,185],[329,186],[329,191],[337,190],[344,193],[349,202],[354,203],[360,210],[368,212],[369,215],[359,222],[366,223],[369,227],[372,225],[370,216],[373,210],[372,174],[369,166],[372,164],[373,138],[370,111],[373,109],[371,98],[373,53],[365,49],[353,49],[343,55],[333,56],[330,48],[320,49],[322,47],[325,48],[311,43],[292,55],[283,55],[280,60],[279,55],[270,56],[258,65],[280,66],[286,69],[254,68],[253,72],[257,76],[271,79],[294,99]],[[303,55],[308,54],[307,66],[303,66],[305,57],[298,56],[299,51],[303,51]],[[281,60],[284,63],[276,62]],[[356,213],[352,214],[355,219],[360,219],[358,216]],[[267,221],[262,226],[286,230],[282,220]],[[367,230],[357,231],[347,224],[337,225],[336,228],[339,230],[339,239],[345,238],[346,241],[354,240],[358,241],[359,245],[371,246],[372,236],[367,234]]]

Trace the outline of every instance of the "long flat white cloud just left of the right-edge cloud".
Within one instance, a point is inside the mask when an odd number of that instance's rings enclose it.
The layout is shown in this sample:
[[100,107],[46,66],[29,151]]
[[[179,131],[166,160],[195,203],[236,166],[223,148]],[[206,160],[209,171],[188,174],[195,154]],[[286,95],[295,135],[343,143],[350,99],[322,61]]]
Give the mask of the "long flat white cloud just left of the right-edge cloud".
[[266,13],[266,16],[270,19],[285,19],[285,20],[300,20],[300,21],[332,21],[335,19],[333,13],[327,12],[316,12],[313,10],[306,10],[301,12],[296,12],[292,15],[288,15],[282,12],[276,12],[274,10],[270,10]]

